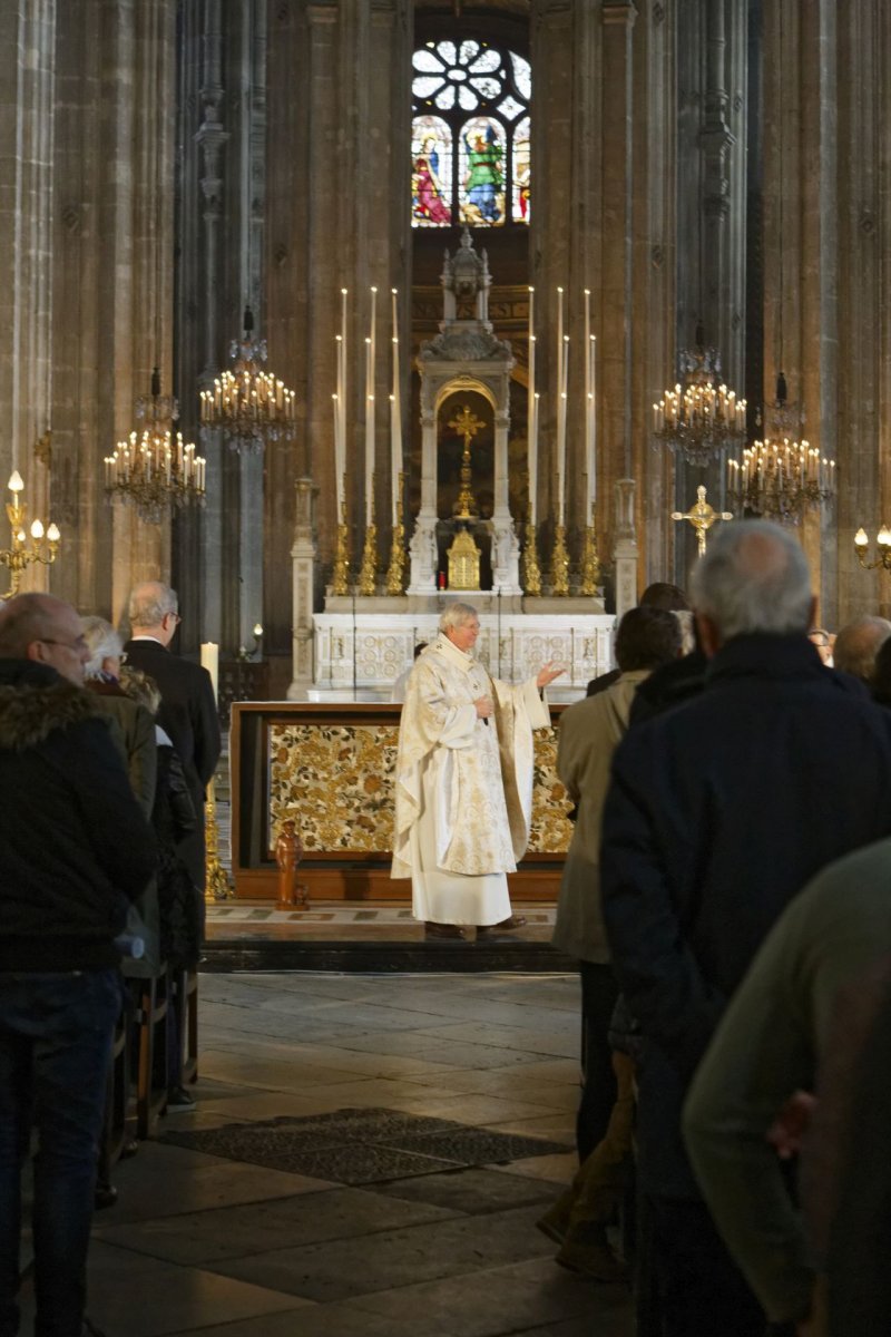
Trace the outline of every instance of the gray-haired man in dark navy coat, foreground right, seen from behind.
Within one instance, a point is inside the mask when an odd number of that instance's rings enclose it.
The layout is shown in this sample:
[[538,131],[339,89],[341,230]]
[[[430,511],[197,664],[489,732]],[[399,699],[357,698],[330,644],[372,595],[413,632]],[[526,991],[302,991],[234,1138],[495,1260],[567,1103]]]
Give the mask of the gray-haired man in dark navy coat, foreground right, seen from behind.
[[641,1025],[639,1174],[664,1337],[763,1337],[680,1138],[685,1090],[785,904],[891,833],[891,721],[807,638],[807,559],[777,525],[712,539],[693,576],[704,691],[632,729],[604,812],[604,920]]

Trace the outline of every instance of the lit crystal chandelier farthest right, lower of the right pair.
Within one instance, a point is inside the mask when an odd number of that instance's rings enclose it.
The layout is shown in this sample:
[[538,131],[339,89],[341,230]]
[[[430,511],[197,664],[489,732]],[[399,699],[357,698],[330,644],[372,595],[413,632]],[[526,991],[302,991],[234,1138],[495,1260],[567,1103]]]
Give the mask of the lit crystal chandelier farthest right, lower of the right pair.
[[835,460],[808,441],[753,441],[727,461],[727,492],[737,513],[800,524],[835,493]]

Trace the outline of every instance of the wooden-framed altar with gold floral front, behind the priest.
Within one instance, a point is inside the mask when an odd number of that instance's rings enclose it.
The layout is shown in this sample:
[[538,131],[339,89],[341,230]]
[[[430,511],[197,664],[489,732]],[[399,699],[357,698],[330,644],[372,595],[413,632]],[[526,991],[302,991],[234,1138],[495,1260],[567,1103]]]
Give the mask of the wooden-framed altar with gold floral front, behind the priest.
[[[552,719],[562,713],[552,707]],[[238,702],[232,706],[232,877],[238,896],[277,896],[275,842],[294,820],[303,854],[297,880],[310,898],[406,900],[390,878],[394,771],[401,707],[389,703]],[[556,898],[572,837],[557,779],[553,729],[536,734],[529,849],[521,894]]]

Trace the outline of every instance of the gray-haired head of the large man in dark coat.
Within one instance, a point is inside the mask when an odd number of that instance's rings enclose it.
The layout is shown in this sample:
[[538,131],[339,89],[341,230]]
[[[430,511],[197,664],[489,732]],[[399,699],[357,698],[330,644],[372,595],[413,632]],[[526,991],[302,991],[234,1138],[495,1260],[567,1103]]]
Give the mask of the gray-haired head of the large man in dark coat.
[[721,644],[763,631],[807,634],[811,572],[801,544],[769,520],[721,525],[693,568],[693,607],[715,623]]

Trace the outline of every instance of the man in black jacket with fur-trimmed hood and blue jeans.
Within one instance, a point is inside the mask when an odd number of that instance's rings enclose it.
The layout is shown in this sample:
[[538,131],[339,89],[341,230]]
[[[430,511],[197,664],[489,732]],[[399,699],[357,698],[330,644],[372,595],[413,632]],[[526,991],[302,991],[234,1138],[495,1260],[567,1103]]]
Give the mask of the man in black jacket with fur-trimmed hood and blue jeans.
[[0,1334],[19,1329],[20,1170],[32,1123],[37,1332],[80,1337],[96,1146],[120,1011],[115,937],[155,842],[90,652],[49,595],[0,604]]

